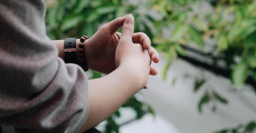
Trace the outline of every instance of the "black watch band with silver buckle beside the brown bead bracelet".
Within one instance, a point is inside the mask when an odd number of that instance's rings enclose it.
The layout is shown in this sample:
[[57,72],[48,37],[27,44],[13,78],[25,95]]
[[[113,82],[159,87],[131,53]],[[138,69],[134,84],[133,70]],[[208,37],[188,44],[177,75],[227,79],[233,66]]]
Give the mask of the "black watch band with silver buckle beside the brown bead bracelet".
[[76,38],[65,38],[64,41],[64,60],[65,63],[77,63],[76,57]]

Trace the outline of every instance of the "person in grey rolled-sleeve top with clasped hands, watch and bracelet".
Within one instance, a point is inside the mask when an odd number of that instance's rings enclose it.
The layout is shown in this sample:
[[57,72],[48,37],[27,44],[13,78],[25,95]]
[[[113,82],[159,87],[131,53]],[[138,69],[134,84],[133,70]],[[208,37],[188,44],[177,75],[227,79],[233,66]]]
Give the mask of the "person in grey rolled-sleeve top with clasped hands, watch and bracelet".
[[147,35],[133,33],[132,15],[83,42],[87,67],[107,74],[92,80],[77,64],[64,62],[64,40],[47,37],[43,0],[2,0],[0,17],[0,125],[17,133],[87,131],[158,72],[150,64],[159,62],[159,54]]

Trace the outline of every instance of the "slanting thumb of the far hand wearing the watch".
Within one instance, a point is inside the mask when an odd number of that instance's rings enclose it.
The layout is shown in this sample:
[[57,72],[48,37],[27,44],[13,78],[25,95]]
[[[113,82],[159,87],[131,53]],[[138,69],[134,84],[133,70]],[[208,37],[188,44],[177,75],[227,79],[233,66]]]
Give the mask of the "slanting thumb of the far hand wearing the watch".
[[110,21],[109,23],[103,25],[101,27],[101,29],[104,32],[107,32],[108,34],[113,35],[124,24],[126,17],[130,16],[130,15],[132,15],[132,14],[128,14],[124,17],[115,18],[114,20]]

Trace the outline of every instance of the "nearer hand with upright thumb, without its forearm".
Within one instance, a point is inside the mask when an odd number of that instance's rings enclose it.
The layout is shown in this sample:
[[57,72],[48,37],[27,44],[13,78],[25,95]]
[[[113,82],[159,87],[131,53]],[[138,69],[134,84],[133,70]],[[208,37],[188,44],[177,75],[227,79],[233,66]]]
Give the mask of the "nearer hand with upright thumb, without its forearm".
[[[135,71],[134,77],[142,81],[141,88],[146,88],[148,76],[150,74],[150,56],[142,45],[132,42],[134,30],[133,16],[127,16],[122,29],[122,36],[116,47],[115,63],[116,66],[128,66],[127,71]],[[152,69],[153,70],[153,69]]]

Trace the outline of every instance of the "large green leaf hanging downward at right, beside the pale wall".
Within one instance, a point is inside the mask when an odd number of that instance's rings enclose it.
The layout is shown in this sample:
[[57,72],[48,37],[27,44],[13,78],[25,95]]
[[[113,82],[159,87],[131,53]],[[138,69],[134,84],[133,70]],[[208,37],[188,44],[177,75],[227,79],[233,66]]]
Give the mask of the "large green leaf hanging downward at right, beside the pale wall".
[[232,71],[232,83],[238,89],[242,87],[248,76],[248,65],[242,61],[238,63]]

